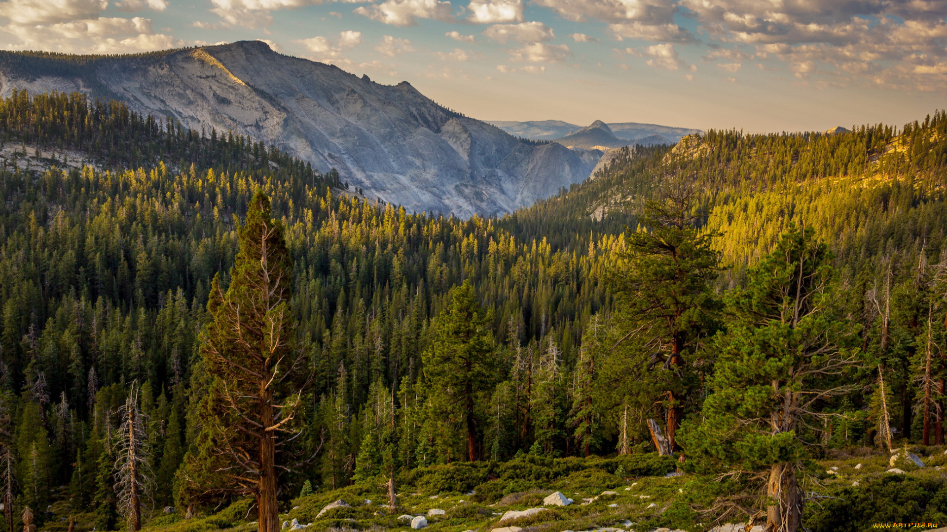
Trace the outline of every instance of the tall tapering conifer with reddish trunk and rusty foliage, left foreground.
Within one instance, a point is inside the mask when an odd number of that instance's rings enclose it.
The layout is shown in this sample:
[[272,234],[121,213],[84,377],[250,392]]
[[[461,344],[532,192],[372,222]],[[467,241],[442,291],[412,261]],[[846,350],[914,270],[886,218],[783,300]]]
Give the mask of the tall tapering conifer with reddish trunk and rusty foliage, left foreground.
[[205,430],[214,452],[233,461],[227,474],[235,488],[257,499],[260,532],[277,532],[277,439],[296,430],[306,363],[293,337],[283,226],[262,192],[250,202],[240,244],[229,288],[223,292],[218,275],[207,302],[213,322],[201,354],[214,379],[207,399],[214,418]]

